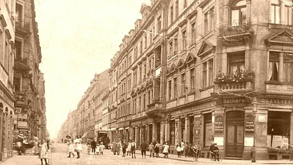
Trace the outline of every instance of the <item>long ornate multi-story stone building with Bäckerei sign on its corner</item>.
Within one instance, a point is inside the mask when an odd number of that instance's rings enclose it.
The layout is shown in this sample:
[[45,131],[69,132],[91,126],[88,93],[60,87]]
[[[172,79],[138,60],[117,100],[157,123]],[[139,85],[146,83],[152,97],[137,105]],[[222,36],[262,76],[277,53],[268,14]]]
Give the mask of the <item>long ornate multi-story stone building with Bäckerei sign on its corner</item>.
[[251,160],[252,148],[256,159],[288,158],[292,7],[292,0],[142,4],[142,19],[111,60],[98,128],[111,142],[169,141],[171,152],[181,140],[199,143],[202,157],[212,142],[223,158]]

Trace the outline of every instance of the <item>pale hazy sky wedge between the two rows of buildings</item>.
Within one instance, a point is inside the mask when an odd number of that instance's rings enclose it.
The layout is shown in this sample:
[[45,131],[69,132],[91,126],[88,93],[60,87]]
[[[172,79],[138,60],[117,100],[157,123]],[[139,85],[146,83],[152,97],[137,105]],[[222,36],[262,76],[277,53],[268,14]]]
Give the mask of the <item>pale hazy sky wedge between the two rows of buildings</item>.
[[94,78],[110,67],[150,0],[35,0],[51,138]]

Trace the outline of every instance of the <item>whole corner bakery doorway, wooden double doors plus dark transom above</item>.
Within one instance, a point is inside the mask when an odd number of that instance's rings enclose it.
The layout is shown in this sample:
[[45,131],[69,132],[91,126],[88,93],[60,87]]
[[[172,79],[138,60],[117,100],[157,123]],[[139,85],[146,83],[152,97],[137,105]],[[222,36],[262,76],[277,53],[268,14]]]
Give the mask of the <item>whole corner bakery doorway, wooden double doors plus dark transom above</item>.
[[242,158],[244,149],[244,112],[226,114],[226,157]]

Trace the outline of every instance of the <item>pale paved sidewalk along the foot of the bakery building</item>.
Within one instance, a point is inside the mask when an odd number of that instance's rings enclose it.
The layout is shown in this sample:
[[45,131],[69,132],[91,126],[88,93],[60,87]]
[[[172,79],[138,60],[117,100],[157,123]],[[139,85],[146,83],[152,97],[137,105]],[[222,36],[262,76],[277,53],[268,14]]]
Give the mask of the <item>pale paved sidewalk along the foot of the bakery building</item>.
[[[136,150],[136,157],[137,158],[142,158],[141,157],[141,151],[140,150]],[[259,164],[264,164],[264,165],[269,165],[269,164],[275,164],[275,165],[288,165],[288,164],[292,164],[293,165],[293,161],[289,161],[289,160],[257,160],[256,163],[251,163],[251,161],[247,161],[247,160],[230,160],[230,159],[223,159],[220,160],[220,162],[218,161],[212,161],[209,158],[198,158],[198,161],[193,161],[192,157],[185,157],[185,156],[181,156],[181,158],[178,158],[177,155],[175,154],[168,154],[168,158],[164,158],[164,154],[163,153],[159,153],[159,156],[161,159],[172,159],[172,160],[179,160],[179,161],[185,161],[185,162],[194,162],[194,163],[205,163],[205,164],[242,164],[242,165],[259,165]],[[149,158],[149,151],[146,151],[146,157]]]

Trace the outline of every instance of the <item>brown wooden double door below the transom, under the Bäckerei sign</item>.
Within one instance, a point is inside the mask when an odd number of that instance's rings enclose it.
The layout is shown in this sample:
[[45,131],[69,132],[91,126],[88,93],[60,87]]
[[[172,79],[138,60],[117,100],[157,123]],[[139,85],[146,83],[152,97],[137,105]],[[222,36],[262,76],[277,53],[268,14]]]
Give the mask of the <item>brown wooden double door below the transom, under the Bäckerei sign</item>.
[[242,158],[244,148],[244,125],[227,125],[226,157]]

